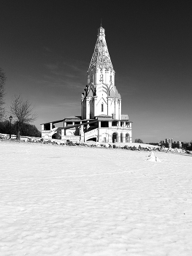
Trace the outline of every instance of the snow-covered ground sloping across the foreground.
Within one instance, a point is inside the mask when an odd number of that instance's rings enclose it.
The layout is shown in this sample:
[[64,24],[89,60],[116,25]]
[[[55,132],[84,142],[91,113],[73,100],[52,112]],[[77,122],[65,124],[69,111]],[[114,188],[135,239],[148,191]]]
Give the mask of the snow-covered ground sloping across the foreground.
[[191,256],[192,157],[0,141],[1,256]]

